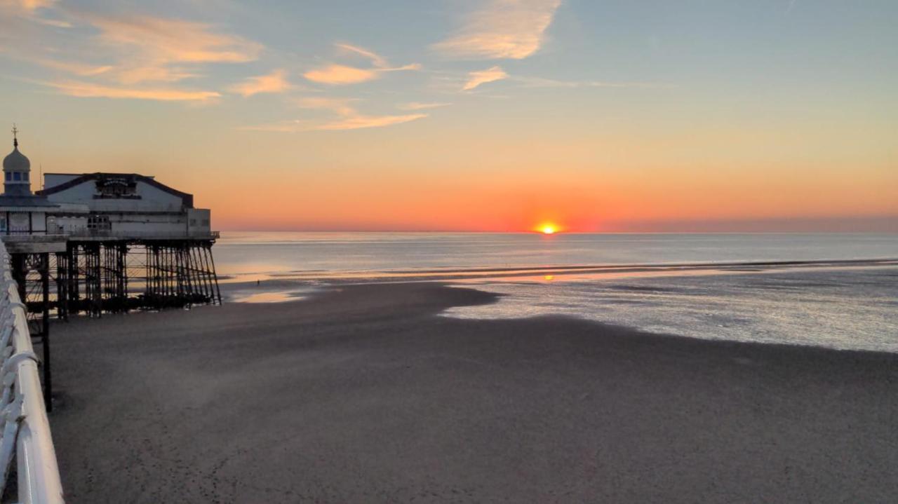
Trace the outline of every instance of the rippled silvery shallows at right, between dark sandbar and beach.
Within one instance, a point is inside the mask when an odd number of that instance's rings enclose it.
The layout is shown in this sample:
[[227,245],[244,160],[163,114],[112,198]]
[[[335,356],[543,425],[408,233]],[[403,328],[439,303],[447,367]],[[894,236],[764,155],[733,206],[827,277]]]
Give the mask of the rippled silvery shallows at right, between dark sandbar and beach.
[[898,266],[470,281],[504,296],[463,318],[568,315],[673,335],[898,352]]

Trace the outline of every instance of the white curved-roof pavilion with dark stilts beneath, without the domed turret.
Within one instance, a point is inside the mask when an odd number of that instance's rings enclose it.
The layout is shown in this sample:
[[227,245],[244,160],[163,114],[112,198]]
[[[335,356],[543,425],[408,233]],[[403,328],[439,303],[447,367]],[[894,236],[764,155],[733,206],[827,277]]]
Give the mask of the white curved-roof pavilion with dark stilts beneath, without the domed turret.
[[47,232],[56,254],[60,317],[84,311],[220,303],[212,257],[218,237],[193,196],[136,173],[48,173],[37,196],[57,208]]

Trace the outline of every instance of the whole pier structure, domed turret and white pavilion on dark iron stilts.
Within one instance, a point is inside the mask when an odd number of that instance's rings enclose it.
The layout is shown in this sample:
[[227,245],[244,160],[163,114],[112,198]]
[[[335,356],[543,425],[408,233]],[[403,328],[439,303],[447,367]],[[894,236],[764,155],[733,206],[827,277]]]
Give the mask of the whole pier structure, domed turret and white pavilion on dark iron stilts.
[[31,163],[15,135],[4,159],[0,237],[32,314],[99,317],[221,302],[218,233],[192,195],[154,177],[106,172],[47,173],[32,193]]

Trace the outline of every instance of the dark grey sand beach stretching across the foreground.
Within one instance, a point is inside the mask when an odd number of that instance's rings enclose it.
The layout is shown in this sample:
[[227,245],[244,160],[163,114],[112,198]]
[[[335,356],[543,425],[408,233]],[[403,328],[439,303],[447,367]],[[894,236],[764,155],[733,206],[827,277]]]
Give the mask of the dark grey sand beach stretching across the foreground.
[[53,327],[67,501],[893,502],[898,355],[367,284]]

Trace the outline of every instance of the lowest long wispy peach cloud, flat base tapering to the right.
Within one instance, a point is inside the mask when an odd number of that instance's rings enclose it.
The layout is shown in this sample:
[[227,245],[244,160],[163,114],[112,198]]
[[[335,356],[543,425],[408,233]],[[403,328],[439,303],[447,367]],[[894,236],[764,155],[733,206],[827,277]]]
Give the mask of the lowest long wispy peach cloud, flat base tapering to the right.
[[301,131],[342,131],[372,127],[393,126],[408,123],[424,117],[427,114],[403,114],[369,116],[360,113],[351,104],[357,100],[336,98],[304,98],[297,101],[303,109],[324,109],[333,113],[336,118],[320,121],[311,119],[296,119],[281,121],[269,125],[249,126],[243,129],[254,131],[276,132],[301,132]]

